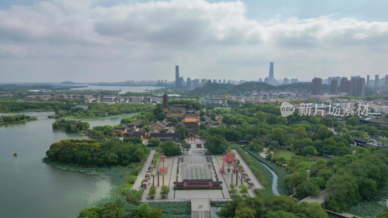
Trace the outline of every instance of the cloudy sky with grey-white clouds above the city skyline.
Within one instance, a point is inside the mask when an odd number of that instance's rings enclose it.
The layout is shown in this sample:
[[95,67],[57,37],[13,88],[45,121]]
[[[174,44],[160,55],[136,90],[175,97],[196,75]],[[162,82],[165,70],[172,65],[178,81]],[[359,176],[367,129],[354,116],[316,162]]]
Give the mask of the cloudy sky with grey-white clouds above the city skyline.
[[387,0],[1,0],[0,82],[388,74]]

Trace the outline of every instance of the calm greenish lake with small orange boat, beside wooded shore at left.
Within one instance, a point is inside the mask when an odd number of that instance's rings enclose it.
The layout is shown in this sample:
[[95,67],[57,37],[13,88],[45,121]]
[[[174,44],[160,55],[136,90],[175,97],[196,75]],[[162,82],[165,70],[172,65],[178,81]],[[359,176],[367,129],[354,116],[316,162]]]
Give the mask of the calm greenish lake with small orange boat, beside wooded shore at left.
[[[10,115],[11,113],[0,113]],[[41,115],[48,112],[26,112]],[[90,121],[90,126],[117,125],[121,118]],[[53,130],[54,119],[0,125],[0,217],[75,217],[89,203],[106,196],[107,181],[81,172],[62,171],[42,162],[49,146],[63,139],[86,139]],[[17,152],[15,157],[13,154]]]

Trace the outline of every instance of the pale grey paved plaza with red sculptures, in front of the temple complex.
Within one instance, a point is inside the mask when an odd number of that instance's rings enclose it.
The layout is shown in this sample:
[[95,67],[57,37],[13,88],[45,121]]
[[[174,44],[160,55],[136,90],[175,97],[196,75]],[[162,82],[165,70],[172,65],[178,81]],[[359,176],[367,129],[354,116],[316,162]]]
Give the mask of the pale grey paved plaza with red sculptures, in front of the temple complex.
[[[249,169],[246,163],[243,161],[242,157],[236,150],[232,150],[235,152],[236,158],[240,160],[242,170],[238,172],[238,185],[243,184],[249,187],[248,180],[249,178],[253,187],[248,188],[248,196],[254,197],[254,189],[255,188],[263,188],[260,184],[259,180],[256,178],[254,173]],[[153,151],[155,152],[155,151]],[[199,153],[201,152],[201,153]],[[218,156],[205,156],[205,152],[203,148],[194,148],[189,151],[189,153],[182,154],[180,156],[167,156],[164,162],[164,166],[168,168],[167,174],[164,175],[164,185],[170,188],[170,193],[167,195],[166,199],[162,199],[160,195],[160,189],[163,184],[163,176],[159,176],[159,186],[157,180],[156,169],[162,167],[162,162],[159,163],[158,166],[155,167],[155,170],[151,172],[151,179],[147,183],[147,188],[144,190],[142,202],[187,202],[193,199],[209,199],[211,202],[225,202],[230,201],[231,196],[229,193],[230,184],[232,183],[233,176],[233,184],[236,184],[236,174],[232,172],[233,167],[230,167],[230,171],[227,171],[227,167],[225,167],[226,173],[219,172],[223,161],[222,155]],[[153,153],[151,153],[153,156]],[[151,155],[150,155],[151,156]],[[179,165],[178,165],[179,158]],[[141,173],[139,174],[138,179],[135,182],[134,189],[139,190],[141,188],[141,182],[146,177],[146,172],[149,166],[149,163],[152,161],[152,157],[148,157],[145,166],[142,168]],[[213,163],[213,165],[211,164]],[[213,167],[212,167],[213,166]],[[178,171],[179,169],[179,171]],[[177,173],[178,171],[178,173]],[[246,172],[246,176],[242,178],[242,171]],[[233,175],[232,175],[233,174]],[[199,189],[199,190],[174,190],[174,182],[182,181],[183,179],[212,179],[216,181],[216,176],[218,180],[222,182],[222,189]],[[141,178],[141,179],[139,179]],[[139,181],[138,181],[139,180]],[[152,186],[154,182],[156,190],[156,196],[154,199],[149,198],[149,187]],[[136,187],[135,187],[136,186]],[[241,195],[240,188],[237,186],[238,190],[237,194]]]

